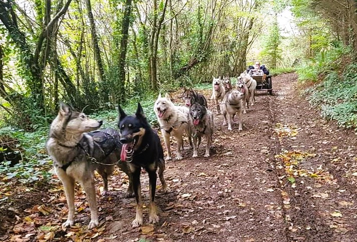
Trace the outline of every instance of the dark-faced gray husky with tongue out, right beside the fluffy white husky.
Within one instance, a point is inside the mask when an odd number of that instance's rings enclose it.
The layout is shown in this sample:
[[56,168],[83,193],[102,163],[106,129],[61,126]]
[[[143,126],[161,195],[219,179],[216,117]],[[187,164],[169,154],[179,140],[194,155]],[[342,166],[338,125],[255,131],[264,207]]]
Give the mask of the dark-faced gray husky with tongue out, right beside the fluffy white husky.
[[205,157],[210,156],[211,140],[214,131],[213,120],[213,113],[200,104],[200,102],[194,102],[191,105],[190,123],[192,125],[193,135],[193,158],[197,157],[197,148],[201,143],[202,136],[205,136],[207,141]]

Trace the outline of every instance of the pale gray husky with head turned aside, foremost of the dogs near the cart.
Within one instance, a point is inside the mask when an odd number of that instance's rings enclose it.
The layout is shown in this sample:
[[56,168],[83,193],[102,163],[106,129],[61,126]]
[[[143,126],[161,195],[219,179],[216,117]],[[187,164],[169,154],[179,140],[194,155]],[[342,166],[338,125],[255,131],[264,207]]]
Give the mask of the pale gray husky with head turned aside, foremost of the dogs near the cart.
[[223,125],[226,125],[226,118],[228,116],[228,130],[232,130],[231,117],[238,113],[239,130],[242,130],[242,99],[244,94],[238,90],[232,90],[227,93],[221,103],[223,114]]

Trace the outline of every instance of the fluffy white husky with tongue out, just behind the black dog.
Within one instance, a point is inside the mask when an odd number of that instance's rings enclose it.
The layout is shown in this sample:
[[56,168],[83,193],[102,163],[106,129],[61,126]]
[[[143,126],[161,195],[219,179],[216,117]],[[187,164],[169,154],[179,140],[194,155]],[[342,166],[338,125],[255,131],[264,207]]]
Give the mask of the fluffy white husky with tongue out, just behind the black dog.
[[182,160],[181,148],[183,148],[183,137],[188,135],[189,143],[192,147],[191,126],[189,125],[189,109],[184,106],[175,106],[168,94],[161,97],[159,94],[154,111],[161,127],[161,133],[164,138],[167,151],[166,160],[171,160],[170,137],[173,136],[177,141],[177,160]]

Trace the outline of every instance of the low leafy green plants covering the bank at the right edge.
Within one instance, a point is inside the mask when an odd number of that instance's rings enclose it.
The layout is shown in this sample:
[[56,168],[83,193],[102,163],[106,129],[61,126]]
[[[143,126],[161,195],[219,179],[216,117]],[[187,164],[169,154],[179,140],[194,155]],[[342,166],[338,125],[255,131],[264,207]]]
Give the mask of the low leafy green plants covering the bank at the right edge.
[[346,67],[342,74],[329,73],[320,84],[306,90],[312,105],[321,107],[324,117],[338,125],[357,130],[357,63]]

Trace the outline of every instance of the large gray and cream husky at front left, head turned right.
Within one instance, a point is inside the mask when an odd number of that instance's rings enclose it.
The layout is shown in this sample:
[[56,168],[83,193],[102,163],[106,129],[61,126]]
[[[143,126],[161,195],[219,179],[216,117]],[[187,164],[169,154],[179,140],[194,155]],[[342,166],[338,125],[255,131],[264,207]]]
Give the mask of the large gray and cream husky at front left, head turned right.
[[[46,148],[53,160],[54,170],[63,184],[68,204],[68,219],[62,224],[63,227],[74,223],[75,181],[82,185],[88,199],[91,217],[88,228],[92,229],[99,224],[94,170],[103,177],[103,193],[107,193],[108,176],[112,174],[114,165],[120,158],[122,146],[119,133],[114,129],[86,133],[98,129],[101,125],[102,121],[90,119],[64,103],[60,103],[58,115],[51,123]],[[129,175],[126,163],[119,165]],[[127,195],[132,196],[130,183]]]

